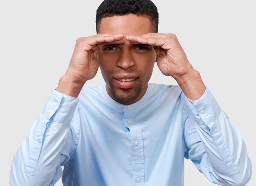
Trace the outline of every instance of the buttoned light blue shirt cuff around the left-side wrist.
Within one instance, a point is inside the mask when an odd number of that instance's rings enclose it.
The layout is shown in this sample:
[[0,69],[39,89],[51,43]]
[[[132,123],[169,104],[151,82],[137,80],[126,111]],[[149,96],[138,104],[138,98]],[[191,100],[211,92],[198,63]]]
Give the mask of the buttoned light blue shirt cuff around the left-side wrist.
[[68,96],[54,89],[43,109],[43,114],[48,120],[70,124],[78,101],[79,98]]

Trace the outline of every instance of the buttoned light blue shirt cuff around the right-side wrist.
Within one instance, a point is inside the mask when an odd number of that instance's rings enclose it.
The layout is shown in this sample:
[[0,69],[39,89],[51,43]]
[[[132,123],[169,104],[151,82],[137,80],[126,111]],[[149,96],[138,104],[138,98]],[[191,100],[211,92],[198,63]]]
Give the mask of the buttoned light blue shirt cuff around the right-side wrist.
[[193,101],[187,97],[185,100],[198,124],[208,125],[220,113],[220,106],[209,88],[206,88],[204,94],[198,100]]

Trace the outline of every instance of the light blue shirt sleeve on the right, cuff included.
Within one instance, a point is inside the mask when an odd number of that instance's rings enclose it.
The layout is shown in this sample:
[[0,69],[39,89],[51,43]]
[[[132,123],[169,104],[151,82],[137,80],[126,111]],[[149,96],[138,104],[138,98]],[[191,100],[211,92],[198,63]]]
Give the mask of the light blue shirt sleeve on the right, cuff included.
[[185,158],[211,182],[242,186],[252,176],[252,163],[236,125],[206,88],[200,99],[184,99]]

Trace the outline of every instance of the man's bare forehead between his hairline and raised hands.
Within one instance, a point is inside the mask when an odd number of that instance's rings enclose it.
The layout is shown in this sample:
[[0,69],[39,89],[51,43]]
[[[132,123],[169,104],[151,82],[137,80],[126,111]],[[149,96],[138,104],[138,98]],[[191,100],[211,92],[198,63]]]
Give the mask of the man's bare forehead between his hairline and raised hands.
[[103,18],[99,33],[122,33],[126,35],[141,35],[152,32],[150,20],[146,16],[127,14]]

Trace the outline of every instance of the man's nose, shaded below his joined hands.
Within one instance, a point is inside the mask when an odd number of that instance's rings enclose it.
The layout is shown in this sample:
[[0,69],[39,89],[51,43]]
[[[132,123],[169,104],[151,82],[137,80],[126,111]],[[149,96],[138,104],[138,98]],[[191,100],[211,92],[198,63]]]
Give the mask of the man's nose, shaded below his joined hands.
[[135,66],[135,62],[132,59],[130,49],[124,48],[121,50],[116,65],[123,69],[128,69],[131,66]]

